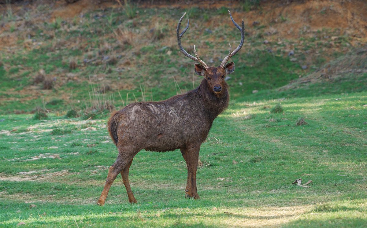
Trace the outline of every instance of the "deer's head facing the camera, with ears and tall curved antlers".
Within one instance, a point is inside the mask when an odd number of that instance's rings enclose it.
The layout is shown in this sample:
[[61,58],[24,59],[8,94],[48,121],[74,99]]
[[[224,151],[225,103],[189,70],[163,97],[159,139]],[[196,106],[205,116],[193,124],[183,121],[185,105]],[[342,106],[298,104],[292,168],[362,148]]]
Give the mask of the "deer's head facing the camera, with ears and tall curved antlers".
[[233,71],[235,71],[235,63],[230,62],[228,64],[226,64],[228,62],[228,59],[231,58],[233,55],[235,55],[242,47],[243,42],[244,42],[244,37],[245,37],[245,24],[244,21],[242,20],[242,25],[241,27],[239,25],[237,25],[237,23],[233,20],[232,15],[229,12],[229,16],[232,19],[233,24],[237,27],[237,29],[240,30],[241,32],[241,42],[238,45],[238,47],[233,51],[232,48],[229,44],[229,54],[223,59],[222,63],[220,66],[218,67],[209,67],[203,60],[201,60],[199,58],[199,55],[196,52],[196,48],[194,45],[194,52],[195,52],[195,56],[192,56],[190,54],[188,54],[185,49],[183,49],[182,45],[181,45],[181,37],[183,36],[183,34],[186,32],[186,30],[189,28],[189,19],[187,19],[187,26],[186,28],[182,31],[182,33],[180,34],[180,26],[181,26],[181,22],[183,17],[185,16],[186,12],[181,16],[178,25],[177,25],[177,43],[178,43],[178,47],[180,48],[181,52],[187,56],[188,58],[195,60],[196,62],[198,62],[199,64],[195,64],[195,73],[199,76],[204,76],[204,78],[207,80],[208,85],[210,86],[212,92],[214,92],[215,94],[217,94],[218,96],[221,95],[221,91],[222,91],[222,87],[226,87],[227,84],[224,80],[225,76],[227,74],[231,74]]

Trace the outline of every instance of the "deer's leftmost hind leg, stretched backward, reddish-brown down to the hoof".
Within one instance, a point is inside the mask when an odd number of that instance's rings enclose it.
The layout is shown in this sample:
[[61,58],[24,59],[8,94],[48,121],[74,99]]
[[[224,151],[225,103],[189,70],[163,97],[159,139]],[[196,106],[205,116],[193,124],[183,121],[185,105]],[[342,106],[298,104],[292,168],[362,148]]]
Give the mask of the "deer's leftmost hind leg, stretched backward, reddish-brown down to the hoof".
[[[132,159],[134,156],[139,152],[139,150],[134,152],[126,152],[128,150],[119,150],[119,155],[117,155],[116,162],[113,163],[112,166],[110,166],[107,174],[107,180],[105,183],[105,187],[103,187],[103,191],[101,193],[101,196],[99,197],[97,204],[103,206],[105,204],[108,191],[110,190],[110,187],[113,183],[113,181],[116,179],[117,175],[119,173],[123,172],[124,169],[130,168]],[[130,187],[130,185],[129,185]],[[131,190],[130,190],[131,191]],[[130,197],[129,197],[130,199]]]

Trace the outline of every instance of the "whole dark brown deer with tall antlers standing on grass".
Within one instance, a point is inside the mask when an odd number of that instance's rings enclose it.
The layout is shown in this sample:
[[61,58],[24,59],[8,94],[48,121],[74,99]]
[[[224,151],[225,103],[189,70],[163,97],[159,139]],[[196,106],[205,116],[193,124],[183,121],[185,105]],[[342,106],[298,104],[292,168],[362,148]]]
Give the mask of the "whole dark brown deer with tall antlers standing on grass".
[[112,113],[108,121],[108,131],[119,153],[108,170],[98,205],[105,204],[108,191],[119,174],[126,187],[129,203],[137,203],[130,188],[128,174],[132,159],[142,149],[157,152],[179,149],[187,166],[185,198],[200,199],[196,187],[200,146],[206,140],[214,119],[228,107],[229,93],[225,76],[233,73],[235,63],[227,62],[244,43],[244,21],[242,20],[240,27],[233,20],[229,10],[228,12],[233,24],[241,32],[241,41],[233,52],[229,44],[229,54],[218,67],[209,67],[203,62],[196,52],[195,45],[196,57],[183,49],[181,37],[189,28],[189,19],[182,33],[180,26],[186,12],[179,19],[178,47],[186,57],[198,62],[194,71],[204,77],[197,88],[167,100],[131,103]]

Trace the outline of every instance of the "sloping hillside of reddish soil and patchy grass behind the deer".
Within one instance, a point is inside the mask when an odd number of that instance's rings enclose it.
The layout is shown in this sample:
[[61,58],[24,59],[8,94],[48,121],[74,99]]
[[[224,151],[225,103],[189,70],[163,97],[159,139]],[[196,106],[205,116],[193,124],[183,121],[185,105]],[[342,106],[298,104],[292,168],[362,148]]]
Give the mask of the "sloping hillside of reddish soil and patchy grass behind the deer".
[[[190,28],[183,47],[193,55],[196,45],[210,66],[221,63],[228,43],[237,47],[240,41],[228,9],[237,23],[244,19],[245,43],[232,58],[236,71],[227,81],[232,99],[310,96],[320,88],[321,93],[356,92],[366,85],[333,87],[341,76],[363,81],[366,74],[365,1],[120,3],[0,4],[0,113],[34,113],[37,107],[57,115],[111,110],[192,89],[201,78],[193,72],[194,62],[179,52],[175,34],[184,12]],[[343,56],[349,57],[333,65]],[[309,90],[312,94],[293,90],[314,83],[326,87]],[[273,95],[276,88],[284,93]],[[259,95],[248,97],[252,91]]]

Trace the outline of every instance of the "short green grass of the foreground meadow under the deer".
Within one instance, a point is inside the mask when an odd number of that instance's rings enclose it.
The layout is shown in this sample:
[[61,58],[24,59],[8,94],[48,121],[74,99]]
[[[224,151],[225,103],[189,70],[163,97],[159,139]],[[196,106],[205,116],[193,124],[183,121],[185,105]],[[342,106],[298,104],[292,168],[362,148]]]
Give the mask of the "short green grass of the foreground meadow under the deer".
[[[272,114],[264,107],[276,101],[232,100],[201,146],[201,162],[210,163],[198,170],[201,200],[184,198],[187,171],[179,151],[141,151],[130,170],[138,204],[128,204],[119,178],[104,207],[96,201],[117,156],[106,118],[1,116],[7,151],[0,161],[1,226],[23,221],[25,227],[98,227],[124,221],[128,227],[363,227],[366,97],[359,92],[340,100],[330,95],[290,98],[282,101],[282,113]],[[300,116],[307,125],[295,124]],[[269,123],[270,118],[276,121]],[[88,126],[96,129],[83,131]],[[7,132],[14,128],[27,130]],[[40,154],[46,158],[32,159]],[[52,154],[59,159],[47,158]],[[311,188],[292,185],[297,178],[313,180]],[[37,207],[29,209],[30,204]]]

